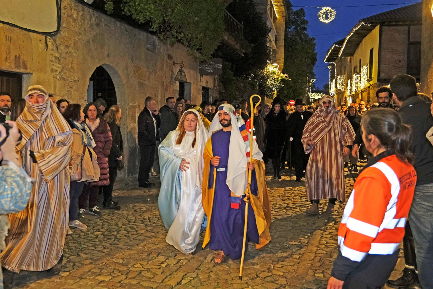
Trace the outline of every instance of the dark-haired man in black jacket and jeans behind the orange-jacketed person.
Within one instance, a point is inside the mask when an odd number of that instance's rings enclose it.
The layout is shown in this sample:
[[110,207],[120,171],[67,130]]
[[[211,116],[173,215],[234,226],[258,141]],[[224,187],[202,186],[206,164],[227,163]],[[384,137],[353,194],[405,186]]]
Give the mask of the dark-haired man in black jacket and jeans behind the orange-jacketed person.
[[417,184],[408,219],[415,240],[420,283],[423,288],[433,288],[433,146],[426,137],[427,131],[433,127],[433,117],[430,104],[417,96],[415,78],[406,74],[396,75],[390,86],[403,123],[412,128]]

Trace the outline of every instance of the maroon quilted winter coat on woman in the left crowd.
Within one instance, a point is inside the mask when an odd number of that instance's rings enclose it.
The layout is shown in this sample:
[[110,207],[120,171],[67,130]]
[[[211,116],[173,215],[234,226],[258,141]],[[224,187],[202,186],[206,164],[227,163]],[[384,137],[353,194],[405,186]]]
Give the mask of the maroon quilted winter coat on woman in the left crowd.
[[[103,127],[106,127],[105,132],[103,130]],[[100,117],[99,126],[95,128],[94,131],[92,131],[92,136],[96,143],[96,146],[93,148],[93,150],[97,156],[97,162],[101,170],[101,176],[99,177],[99,181],[91,182],[90,187],[109,185],[110,174],[108,171],[108,155],[110,154],[113,139],[111,137],[110,127],[102,117]]]

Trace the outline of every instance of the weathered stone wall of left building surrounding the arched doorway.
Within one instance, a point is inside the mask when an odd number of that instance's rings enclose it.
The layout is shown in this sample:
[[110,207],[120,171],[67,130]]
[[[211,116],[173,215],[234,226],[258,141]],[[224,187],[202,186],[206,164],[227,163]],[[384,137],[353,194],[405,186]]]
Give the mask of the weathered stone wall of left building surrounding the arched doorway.
[[[39,8],[47,3],[60,3],[55,0],[29,2]],[[146,96],[155,97],[158,107],[164,105],[166,97],[178,97],[179,83],[174,78],[179,65],[173,62],[184,63],[188,80],[185,93],[192,103],[201,103],[203,89],[209,90],[210,97],[217,95],[215,79],[200,77],[197,54],[184,45],[169,45],[152,34],[89,8],[82,0],[62,0],[58,8],[57,17],[61,17],[61,21],[57,32],[52,33],[51,30],[32,32],[32,27],[23,29],[13,23],[6,24],[9,21],[4,21],[4,14],[0,13],[0,77],[11,85],[14,79],[18,81],[20,89],[13,97],[22,97],[18,94],[25,93],[29,85],[41,84],[57,99],[84,105],[90,77],[102,66],[113,81],[116,101],[123,114],[121,131],[126,169],[120,171],[120,176],[136,175],[139,162],[137,117],[144,108]],[[14,13],[14,10],[6,12]]]

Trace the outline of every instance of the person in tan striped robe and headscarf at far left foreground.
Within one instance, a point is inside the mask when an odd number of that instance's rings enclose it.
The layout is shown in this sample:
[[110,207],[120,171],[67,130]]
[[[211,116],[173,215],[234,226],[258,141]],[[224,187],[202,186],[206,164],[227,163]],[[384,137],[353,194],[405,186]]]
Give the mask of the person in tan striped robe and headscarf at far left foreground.
[[55,266],[68,229],[72,130],[42,86],[29,87],[25,99],[26,107],[16,120],[22,133],[16,149],[21,166],[36,183],[26,208],[9,215],[9,235],[1,253],[9,275]]

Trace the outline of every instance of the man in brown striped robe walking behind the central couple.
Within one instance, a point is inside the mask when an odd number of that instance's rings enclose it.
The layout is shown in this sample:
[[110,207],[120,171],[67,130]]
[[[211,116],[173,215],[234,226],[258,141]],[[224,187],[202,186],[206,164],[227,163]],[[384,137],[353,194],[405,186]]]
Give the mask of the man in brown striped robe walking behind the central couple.
[[307,198],[311,207],[307,214],[319,214],[320,199],[329,199],[326,213],[334,211],[337,198],[345,201],[344,158],[352,149],[355,132],[328,95],[307,121],[302,134],[305,153],[310,153],[305,174]]

